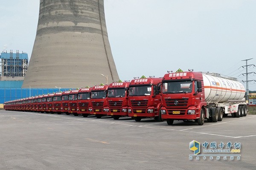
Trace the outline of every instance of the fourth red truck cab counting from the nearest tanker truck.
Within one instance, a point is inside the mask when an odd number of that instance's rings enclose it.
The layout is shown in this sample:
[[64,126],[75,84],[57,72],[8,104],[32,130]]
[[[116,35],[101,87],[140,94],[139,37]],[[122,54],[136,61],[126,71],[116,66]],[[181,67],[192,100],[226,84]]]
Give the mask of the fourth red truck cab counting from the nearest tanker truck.
[[96,118],[107,115],[103,108],[108,106],[107,102],[108,85],[94,86],[91,91],[92,113]]

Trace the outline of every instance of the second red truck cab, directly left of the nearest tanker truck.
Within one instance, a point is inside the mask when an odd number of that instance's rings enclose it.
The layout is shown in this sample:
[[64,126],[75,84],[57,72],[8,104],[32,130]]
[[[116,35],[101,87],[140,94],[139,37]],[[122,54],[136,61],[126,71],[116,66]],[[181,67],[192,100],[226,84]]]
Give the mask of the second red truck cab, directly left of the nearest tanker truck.
[[162,121],[160,83],[162,78],[142,77],[133,79],[129,85],[129,107],[128,116],[136,122],[142,118],[154,117]]

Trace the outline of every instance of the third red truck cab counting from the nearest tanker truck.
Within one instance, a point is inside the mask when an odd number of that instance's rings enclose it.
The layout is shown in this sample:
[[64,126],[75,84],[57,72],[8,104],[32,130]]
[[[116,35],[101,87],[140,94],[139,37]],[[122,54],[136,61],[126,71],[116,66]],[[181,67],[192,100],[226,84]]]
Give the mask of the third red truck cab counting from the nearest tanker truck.
[[129,84],[130,82],[113,82],[108,87],[108,103],[103,110],[115,120],[128,116]]

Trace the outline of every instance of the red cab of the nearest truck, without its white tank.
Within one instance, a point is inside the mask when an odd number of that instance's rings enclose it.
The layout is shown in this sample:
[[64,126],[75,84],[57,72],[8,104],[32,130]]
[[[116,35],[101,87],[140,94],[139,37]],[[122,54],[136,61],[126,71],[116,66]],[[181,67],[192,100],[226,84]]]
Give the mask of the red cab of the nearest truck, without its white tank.
[[162,81],[162,118],[168,125],[174,120],[198,120],[203,105],[203,76],[200,72],[176,72],[165,74]]

